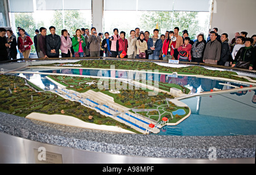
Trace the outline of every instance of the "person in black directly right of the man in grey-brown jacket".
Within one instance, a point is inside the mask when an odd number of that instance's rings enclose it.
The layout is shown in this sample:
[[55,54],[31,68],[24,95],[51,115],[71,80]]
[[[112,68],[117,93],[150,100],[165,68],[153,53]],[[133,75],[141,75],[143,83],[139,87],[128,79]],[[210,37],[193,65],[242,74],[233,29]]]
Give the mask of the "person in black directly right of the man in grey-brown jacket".
[[225,66],[226,61],[228,61],[230,56],[228,34],[222,33],[221,35],[221,57],[218,61],[218,65]]

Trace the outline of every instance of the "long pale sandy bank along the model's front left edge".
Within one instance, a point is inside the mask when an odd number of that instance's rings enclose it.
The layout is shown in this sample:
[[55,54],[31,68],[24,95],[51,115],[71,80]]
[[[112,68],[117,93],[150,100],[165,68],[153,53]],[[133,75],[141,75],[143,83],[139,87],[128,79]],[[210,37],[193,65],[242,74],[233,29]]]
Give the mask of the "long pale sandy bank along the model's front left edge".
[[59,125],[82,127],[82,128],[86,128],[86,129],[105,130],[105,131],[113,131],[113,132],[118,132],[118,133],[135,134],[132,131],[122,129],[121,127],[118,127],[118,126],[97,125],[94,123],[88,123],[88,122],[81,121],[80,119],[75,118],[75,117],[65,116],[65,115],[60,115],[60,114],[48,115],[48,114],[42,114],[42,113],[31,113],[31,114],[28,114],[28,116],[26,118],[35,119],[35,120],[43,121],[43,122],[55,123],[55,124],[59,124]]

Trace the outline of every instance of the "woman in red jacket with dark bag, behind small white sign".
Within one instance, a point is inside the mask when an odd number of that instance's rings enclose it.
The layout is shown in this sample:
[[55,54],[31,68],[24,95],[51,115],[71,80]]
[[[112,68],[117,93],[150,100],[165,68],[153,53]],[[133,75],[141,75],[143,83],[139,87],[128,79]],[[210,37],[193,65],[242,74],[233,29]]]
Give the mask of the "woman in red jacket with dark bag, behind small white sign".
[[189,44],[190,38],[189,37],[185,37],[184,38],[184,44],[181,45],[178,48],[178,52],[179,55],[177,57],[177,59],[179,61],[191,61],[191,49],[192,49],[192,45]]

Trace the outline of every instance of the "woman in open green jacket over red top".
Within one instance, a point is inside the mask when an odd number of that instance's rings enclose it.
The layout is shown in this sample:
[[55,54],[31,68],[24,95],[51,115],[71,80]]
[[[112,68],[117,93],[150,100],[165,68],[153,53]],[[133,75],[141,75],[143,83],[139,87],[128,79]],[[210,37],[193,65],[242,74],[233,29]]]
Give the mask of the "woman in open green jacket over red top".
[[75,57],[84,57],[84,48],[86,44],[80,29],[76,29],[76,35],[72,38],[72,46],[75,52]]

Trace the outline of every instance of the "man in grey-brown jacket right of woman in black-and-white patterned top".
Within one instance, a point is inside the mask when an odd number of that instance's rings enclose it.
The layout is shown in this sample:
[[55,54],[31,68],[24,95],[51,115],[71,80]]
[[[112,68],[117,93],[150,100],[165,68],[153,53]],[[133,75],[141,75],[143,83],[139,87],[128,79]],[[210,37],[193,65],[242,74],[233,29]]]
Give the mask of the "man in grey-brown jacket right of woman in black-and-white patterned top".
[[217,33],[210,32],[210,41],[205,46],[203,62],[217,65],[221,56],[221,43],[217,41]]

